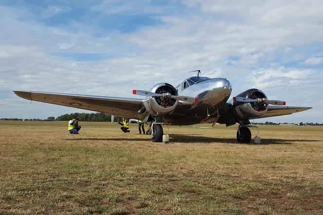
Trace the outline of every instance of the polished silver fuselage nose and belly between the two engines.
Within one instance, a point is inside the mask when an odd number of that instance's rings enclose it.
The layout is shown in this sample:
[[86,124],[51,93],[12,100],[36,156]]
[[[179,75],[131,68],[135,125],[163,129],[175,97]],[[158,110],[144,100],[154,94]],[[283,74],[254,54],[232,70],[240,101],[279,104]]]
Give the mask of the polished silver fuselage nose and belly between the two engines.
[[179,95],[197,97],[198,103],[191,104],[181,102],[181,107],[177,108],[171,115],[165,116],[166,121],[172,125],[192,125],[204,122],[212,122],[223,111],[223,107],[228,101],[232,86],[225,78],[210,78],[198,82],[183,89],[181,83],[176,90]]

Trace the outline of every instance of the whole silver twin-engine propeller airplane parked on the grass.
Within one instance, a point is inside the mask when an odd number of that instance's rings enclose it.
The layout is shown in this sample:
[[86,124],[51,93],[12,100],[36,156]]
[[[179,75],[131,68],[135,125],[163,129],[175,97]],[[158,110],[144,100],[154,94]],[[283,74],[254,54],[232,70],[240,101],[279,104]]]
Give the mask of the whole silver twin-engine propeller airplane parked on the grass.
[[38,102],[93,110],[143,120],[151,125],[153,142],[162,142],[162,125],[198,123],[239,124],[237,141],[251,141],[250,119],[288,115],[311,107],[288,107],[286,102],[269,100],[258,89],[246,90],[228,101],[232,86],[225,78],[185,79],[177,87],[159,83],[149,91],[133,90],[144,99],[78,95],[37,91],[14,91],[18,96]]

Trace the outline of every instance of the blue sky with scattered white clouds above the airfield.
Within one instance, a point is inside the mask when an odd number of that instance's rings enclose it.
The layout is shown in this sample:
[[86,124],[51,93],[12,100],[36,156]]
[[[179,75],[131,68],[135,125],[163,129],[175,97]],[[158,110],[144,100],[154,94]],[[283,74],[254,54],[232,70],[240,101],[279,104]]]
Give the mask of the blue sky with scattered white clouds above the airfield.
[[321,0],[1,0],[1,118],[84,112],[12,90],[134,97],[201,70],[230,80],[232,96],[259,88],[314,107],[263,121],[323,123],[322,11]]

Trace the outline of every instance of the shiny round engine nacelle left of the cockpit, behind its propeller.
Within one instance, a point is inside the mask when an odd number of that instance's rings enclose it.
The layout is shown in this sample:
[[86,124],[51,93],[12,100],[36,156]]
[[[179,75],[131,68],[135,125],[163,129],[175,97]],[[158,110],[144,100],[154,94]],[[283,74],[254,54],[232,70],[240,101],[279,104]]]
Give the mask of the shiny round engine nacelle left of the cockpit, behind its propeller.
[[[170,93],[171,95],[178,95],[177,90],[168,83],[156,84],[150,91],[159,94]],[[155,117],[171,114],[178,104],[178,100],[166,97],[152,97],[144,101],[144,107],[148,113]]]

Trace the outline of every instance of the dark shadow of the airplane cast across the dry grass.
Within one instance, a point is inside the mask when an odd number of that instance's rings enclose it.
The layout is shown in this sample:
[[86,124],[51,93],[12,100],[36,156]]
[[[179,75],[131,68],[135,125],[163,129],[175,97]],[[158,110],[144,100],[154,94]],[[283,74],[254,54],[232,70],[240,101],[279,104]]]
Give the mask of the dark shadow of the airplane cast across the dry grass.
[[[246,144],[238,143],[235,138],[213,138],[213,137],[203,137],[203,136],[193,136],[193,135],[180,135],[180,134],[170,134],[170,143],[235,143],[235,144]],[[88,140],[88,141],[148,141],[151,139],[147,138],[72,138],[64,139],[66,141],[71,140]],[[282,140],[282,139],[262,139],[261,144],[291,144],[293,142],[320,142],[318,140]],[[253,144],[253,139],[251,143]]]

